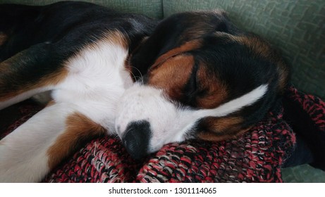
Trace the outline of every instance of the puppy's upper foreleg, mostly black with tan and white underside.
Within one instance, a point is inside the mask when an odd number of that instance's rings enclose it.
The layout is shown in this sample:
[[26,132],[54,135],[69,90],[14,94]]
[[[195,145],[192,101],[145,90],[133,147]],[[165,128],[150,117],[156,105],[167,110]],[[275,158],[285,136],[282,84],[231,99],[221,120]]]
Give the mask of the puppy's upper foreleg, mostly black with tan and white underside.
[[37,44],[0,63],[0,110],[54,89],[67,74],[53,44]]

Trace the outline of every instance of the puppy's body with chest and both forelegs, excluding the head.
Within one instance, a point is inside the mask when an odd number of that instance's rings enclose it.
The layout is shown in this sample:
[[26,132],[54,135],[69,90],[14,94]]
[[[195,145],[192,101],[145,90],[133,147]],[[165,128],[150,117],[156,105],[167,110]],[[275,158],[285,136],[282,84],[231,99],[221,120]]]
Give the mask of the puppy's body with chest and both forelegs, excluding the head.
[[1,139],[0,182],[38,182],[81,141],[114,134],[118,99],[133,83],[127,58],[154,22],[74,2],[1,5],[0,15],[0,108],[53,97]]

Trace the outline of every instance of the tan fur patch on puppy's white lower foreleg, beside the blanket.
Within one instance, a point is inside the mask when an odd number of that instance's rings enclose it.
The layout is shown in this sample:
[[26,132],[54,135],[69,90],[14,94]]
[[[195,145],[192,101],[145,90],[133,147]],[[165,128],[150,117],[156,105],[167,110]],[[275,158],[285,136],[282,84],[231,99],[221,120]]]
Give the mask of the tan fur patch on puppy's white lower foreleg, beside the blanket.
[[66,125],[66,130],[47,151],[50,169],[53,169],[61,160],[73,153],[80,146],[80,143],[86,139],[106,132],[104,127],[80,113],[70,115],[66,120]]

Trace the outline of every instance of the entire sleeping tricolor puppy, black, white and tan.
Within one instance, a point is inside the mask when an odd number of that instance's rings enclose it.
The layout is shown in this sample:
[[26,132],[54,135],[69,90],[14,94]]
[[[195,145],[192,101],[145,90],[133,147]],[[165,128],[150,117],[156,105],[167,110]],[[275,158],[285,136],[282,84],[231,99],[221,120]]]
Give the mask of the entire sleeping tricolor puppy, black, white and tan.
[[179,13],[156,27],[75,2],[1,5],[0,61],[0,108],[44,91],[53,99],[1,139],[1,182],[39,182],[98,134],[117,134],[135,159],[174,141],[235,138],[288,78],[271,46],[222,11]]

